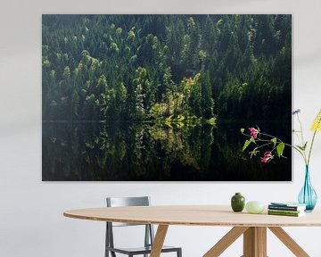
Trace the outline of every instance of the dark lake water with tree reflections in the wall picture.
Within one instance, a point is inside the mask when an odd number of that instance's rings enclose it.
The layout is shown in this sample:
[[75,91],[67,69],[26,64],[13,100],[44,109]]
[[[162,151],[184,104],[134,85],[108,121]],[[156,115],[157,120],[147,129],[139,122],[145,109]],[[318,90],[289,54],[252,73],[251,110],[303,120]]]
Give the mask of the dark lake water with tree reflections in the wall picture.
[[182,128],[148,123],[43,122],[43,180],[292,180],[290,149],[284,152],[286,158],[269,163],[242,152],[246,137],[240,129],[253,125],[291,142],[291,120],[218,121],[215,126]]

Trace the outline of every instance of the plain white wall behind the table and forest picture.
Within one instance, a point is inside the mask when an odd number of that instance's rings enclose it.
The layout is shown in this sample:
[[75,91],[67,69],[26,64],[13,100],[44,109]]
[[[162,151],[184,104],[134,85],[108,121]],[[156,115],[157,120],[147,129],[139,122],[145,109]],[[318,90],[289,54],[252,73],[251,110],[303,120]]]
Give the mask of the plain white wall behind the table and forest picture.
[[[295,200],[303,163],[295,154],[291,183],[48,183],[41,181],[42,13],[292,13],[293,108],[304,129],[321,107],[321,2],[318,0],[29,0],[0,7],[0,256],[103,256],[101,222],[70,220],[62,211],[103,206],[106,195],[151,195],[153,204]],[[309,131],[308,131],[309,132]],[[321,135],[311,163],[321,195]],[[321,203],[319,201],[319,203]],[[167,243],[185,257],[202,256],[228,228],[171,227]],[[286,228],[310,256],[321,256],[321,228]],[[122,233],[122,232],[121,232]],[[310,236],[308,236],[310,235]],[[123,234],[123,239],[129,240]],[[240,256],[241,240],[223,256]],[[268,234],[269,256],[292,256]]]

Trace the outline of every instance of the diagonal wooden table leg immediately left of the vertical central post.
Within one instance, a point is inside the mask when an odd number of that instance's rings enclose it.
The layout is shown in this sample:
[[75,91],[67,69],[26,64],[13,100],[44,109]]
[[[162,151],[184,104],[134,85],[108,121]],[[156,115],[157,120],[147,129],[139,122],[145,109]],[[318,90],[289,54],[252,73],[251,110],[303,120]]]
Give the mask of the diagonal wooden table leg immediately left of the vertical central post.
[[223,236],[216,245],[210,248],[210,251],[205,253],[203,257],[218,257],[223,253],[229,245],[232,245],[235,240],[241,236],[248,227],[232,228],[225,236]]

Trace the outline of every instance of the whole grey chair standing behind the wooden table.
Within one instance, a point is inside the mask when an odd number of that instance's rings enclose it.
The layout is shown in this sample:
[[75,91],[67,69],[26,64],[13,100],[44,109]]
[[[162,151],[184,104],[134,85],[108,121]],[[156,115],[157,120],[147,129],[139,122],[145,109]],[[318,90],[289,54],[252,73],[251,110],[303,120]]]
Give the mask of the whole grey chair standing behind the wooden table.
[[[107,197],[107,207],[119,206],[149,206],[150,197]],[[133,224],[133,223],[120,223],[120,222],[106,222],[106,242],[105,242],[105,257],[116,257],[116,253],[122,253],[133,257],[134,255],[144,254],[147,257],[152,250],[152,243],[154,239],[154,231],[151,224]],[[126,227],[126,226],[145,226],[144,233],[144,246],[136,248],[119,248],[115,247],[113,240],[113,227]],[[161,253],[177,253],[177,257],[182,257],[182,248],[174,246],[163,246]]]

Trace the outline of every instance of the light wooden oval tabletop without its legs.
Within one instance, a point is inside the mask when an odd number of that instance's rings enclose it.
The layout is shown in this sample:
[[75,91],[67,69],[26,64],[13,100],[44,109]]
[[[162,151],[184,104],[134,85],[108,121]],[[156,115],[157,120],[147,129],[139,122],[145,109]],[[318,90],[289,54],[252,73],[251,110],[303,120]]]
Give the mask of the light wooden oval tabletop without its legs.
[[321,210],[301,217],[234,212],[229,205],[169,205],[103,207],[63,212],[65,217],[112,222],[224,226],[224,227],[302,227],[321,226]]

